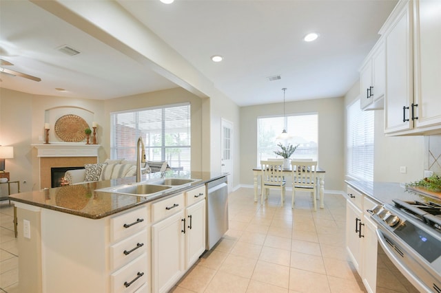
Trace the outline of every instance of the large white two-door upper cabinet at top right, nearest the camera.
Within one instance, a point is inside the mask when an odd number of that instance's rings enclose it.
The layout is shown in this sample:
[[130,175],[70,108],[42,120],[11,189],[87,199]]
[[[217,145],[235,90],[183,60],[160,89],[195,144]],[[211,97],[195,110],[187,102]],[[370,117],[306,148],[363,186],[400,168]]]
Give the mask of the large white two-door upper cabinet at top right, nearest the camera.
[[441,132],[441,1],[400,1],[384,24],[384,133]]

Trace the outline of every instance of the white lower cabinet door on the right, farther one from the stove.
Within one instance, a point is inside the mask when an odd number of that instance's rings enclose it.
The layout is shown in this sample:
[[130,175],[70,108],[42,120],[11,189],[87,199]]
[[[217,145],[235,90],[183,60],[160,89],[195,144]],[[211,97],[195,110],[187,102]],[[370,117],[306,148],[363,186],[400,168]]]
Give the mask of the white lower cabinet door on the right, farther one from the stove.
[[353,205],[349,200],[346,202],[346,249],[349,257],[358,274],[361,274],[361,243],[358,236],[360,221],[362,220],[362,211]]

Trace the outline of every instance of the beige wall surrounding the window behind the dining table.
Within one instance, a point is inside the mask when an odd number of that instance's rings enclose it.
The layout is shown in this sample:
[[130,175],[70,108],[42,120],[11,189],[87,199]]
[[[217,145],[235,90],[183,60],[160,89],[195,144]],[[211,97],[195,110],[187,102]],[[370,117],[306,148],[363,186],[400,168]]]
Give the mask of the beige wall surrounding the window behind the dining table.
[[[326,171],[325,188],[327,191],[341,191],[345,171],[343,98],[287,102],[285,112],[287,115],[318,113],[318,164]],[[257,118],[271,115],[283,115],[283,104],[256,105],[240,109],[241,184],[253,184],[252,169],[257,166]]]

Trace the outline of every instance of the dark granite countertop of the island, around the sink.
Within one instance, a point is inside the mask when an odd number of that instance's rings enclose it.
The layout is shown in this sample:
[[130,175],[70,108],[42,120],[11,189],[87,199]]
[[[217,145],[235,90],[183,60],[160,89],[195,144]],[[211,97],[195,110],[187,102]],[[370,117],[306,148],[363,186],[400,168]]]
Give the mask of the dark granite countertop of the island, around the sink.
[[[97,189],[125,184],[133,184],[136,177],[125,177],[115,180],[105,180],[99,182],[86,182],[83,184],[74,184],[70,186],[49,188],[43,191],[30,191],[25,193],[16,193],[10,195],[9,199],[14,202],[21,202],[31,206],[39,206],[50,210],[57,210],[62,213],[69,213],[80,217],[90,219],[101,219],[108,215],[128,210],[147,202],[183,192],[189,188],[201,186],[207,182],[225,177],[225,173],[210,172],[183,172],[169,171],[165,177],[192,178],[199,181],[175,186],[161,193],[155,193],[150,197],[138,197],[134,195],[121,195],[116,193],[106,193],[96,191]],[[160,173],[151,173],[143,175],[142,181],[149,182],[161,178]]]

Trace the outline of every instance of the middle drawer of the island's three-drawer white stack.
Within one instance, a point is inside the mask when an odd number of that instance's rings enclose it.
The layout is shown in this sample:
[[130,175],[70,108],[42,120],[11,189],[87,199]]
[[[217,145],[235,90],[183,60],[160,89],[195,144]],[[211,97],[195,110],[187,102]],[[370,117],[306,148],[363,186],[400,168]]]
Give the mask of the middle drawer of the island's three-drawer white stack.
[[147,230],[145,229],[110,246],[111,269],[114,270],[136,259],[136,257],[139,257],[143,252],[146,252],[147,249],[150,248],[148,247]]

